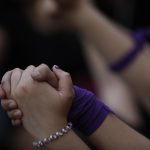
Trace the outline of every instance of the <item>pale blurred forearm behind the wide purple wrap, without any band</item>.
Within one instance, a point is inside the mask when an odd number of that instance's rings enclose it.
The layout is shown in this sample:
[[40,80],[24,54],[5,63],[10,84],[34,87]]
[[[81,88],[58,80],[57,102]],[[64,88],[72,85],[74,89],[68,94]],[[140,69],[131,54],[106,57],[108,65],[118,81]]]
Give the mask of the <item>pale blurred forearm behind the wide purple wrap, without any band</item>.
[[103,57],[92,45],[84,43],[86,60],[94,79],[97,94],[128,124],[134,127],[141,124],[141,117],[135,105],[135,96],[127,83],[109,70]]

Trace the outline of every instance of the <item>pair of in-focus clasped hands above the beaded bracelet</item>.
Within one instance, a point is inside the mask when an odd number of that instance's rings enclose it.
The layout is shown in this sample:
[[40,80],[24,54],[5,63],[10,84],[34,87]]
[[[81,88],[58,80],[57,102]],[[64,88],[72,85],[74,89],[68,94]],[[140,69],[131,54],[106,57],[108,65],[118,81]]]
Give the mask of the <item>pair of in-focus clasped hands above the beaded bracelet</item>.
[[[4,75],[1,86],[2,106],[10,117],[18,106],[23,126],[32,136],[45,137],[67,123],[74,96],[72,81],[57,66],[53,71],[46,65],[29,66],[24,71],[14,69]],[[8,99],[14,102],[12,110],[8,110]]]

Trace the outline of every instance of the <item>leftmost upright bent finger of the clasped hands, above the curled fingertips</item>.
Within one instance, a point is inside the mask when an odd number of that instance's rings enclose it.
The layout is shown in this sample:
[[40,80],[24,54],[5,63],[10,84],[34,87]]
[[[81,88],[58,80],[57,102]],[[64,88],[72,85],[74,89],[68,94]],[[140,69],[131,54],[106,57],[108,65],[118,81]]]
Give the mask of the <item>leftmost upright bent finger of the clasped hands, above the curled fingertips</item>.
[[5,91],[5,94],[7,96],[7,98],[9,97],[10,93],[11,93],[11,75],[12,75],[12,71],[8,71],[4,74],[3,78],[2,78],[2,89]]

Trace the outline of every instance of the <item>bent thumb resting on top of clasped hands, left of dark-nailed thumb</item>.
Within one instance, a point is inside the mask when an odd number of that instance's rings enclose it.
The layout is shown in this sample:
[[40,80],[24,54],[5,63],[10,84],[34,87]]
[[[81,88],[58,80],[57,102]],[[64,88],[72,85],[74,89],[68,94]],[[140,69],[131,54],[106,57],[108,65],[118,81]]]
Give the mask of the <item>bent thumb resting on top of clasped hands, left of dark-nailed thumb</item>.
[[31,76],[36,81],[48,82],[54,88],[58,87],[58,79],[56,75],[45,64],[41,64],[40,66],[36,67]]

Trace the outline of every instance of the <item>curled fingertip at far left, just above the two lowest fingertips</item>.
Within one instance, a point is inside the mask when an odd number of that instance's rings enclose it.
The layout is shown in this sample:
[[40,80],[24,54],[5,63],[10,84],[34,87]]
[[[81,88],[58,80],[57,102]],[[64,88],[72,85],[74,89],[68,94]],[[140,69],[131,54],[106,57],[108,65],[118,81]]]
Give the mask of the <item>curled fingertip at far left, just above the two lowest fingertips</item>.
[[14,101],[14,100],[7,100],[7,99],[2,99],[1,100],[1,105],[2,107],[6,110],[6,111],[9,111],[9,110],[13,110],[13,109],[17,109],[18,106],[17,106],[17,103]]

